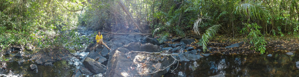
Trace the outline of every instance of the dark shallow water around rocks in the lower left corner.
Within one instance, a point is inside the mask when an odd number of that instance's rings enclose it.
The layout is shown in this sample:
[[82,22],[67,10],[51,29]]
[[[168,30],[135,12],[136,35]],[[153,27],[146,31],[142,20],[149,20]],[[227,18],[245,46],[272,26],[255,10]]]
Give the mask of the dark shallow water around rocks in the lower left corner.
[[74,72],[74,66],[69,65],[67,61],[60,60],[54,62],[54,66],[37,65],[38,73],[30,70],[31,61],[25,61],[22,65],[18,62],[8,62],[7,68],[10,71],[0,70],[0,76],[7,77],[69,77]]

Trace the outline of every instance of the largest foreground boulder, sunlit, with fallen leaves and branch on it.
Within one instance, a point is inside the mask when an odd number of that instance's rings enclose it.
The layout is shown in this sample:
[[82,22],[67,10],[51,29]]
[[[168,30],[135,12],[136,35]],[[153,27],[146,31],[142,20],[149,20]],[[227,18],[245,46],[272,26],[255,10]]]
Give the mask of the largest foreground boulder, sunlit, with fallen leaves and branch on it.
[[[143,76],[139,74],[152,73],[159,69],[164,69],[174,61],[171,56],[138,54],[130,51],[126,48],[117,48],[109,54],[107,77],[159,77],[167,73],[170,67],[154,74]],[[168,51],[162,52],[170,54]]]

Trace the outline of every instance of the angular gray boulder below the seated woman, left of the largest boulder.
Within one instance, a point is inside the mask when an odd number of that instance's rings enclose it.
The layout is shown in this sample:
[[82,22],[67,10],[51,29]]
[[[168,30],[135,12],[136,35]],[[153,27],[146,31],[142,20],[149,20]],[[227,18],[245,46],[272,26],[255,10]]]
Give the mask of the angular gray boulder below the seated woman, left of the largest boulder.
[[[98,74],[98,73],[105,73],[106,72],[106,66],[101,64],[100,62],[95,61],[94,59],[91,59],[89,57],[86,57],[85,60],[83,61],[83,64],[85,65],[86,68],[90,70],[91,73],[93,74]],[[82,71],[81,71],[82,72]]]

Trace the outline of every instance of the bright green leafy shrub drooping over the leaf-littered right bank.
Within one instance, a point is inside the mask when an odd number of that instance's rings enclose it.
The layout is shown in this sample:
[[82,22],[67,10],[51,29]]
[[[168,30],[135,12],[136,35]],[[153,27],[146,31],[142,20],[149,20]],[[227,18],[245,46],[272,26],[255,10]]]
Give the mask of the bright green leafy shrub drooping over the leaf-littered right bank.
[[265,53],[266,51],[266,44],[264,36],[260,33],[260,26],[256,23],[252,24],[245,24],[248,28],[250,28],[250,33],[247,36],[250,39],[250,44],[253,44],[253,49],[255,51],[259,51],[261,54]]

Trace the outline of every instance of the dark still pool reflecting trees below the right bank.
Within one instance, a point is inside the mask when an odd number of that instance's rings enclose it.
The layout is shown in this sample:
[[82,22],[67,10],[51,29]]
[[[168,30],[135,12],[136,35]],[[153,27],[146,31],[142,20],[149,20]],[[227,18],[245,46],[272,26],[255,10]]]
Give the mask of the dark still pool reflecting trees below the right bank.
[[[224,74],[227,77],[298,77],[295,62],[298,54],[287,55],[274,52],[272,57],[261,55],[221,55],[215,54],[193,62],[180,62],[174,71],[180,77],[208,77]],[[174,66],[176,67],[176,66]]]

